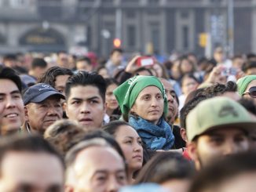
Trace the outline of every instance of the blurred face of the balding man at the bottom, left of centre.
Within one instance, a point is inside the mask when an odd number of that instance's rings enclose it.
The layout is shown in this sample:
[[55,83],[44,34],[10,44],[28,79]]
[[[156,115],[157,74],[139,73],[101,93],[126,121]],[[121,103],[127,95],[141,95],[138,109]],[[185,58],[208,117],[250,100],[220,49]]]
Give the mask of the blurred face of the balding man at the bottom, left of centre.
[[[102,158],[104,157],[104,158]],[[115,192],[126,185],[123,159],[110,147],[90,147],[75,160],[74,191]]]

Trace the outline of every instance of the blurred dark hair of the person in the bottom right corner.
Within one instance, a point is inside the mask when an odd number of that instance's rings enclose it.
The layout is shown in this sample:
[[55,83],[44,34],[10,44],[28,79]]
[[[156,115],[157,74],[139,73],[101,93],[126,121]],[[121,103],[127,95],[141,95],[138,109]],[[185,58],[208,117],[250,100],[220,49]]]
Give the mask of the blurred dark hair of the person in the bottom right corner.
[[189,192],[216,191],[223,183],[244,173],[256,173],[255,152],[232,154],[219,158],[203,168],[193,179]]

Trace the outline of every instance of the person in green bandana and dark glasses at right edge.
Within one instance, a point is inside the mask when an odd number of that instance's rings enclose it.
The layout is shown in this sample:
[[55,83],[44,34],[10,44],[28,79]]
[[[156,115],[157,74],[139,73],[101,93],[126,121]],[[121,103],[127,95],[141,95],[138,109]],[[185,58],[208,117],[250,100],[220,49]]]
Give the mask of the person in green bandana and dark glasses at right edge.
[[254,100],[256,104],[256,75],[247,75],[237,82],[238,93],[246,99]]

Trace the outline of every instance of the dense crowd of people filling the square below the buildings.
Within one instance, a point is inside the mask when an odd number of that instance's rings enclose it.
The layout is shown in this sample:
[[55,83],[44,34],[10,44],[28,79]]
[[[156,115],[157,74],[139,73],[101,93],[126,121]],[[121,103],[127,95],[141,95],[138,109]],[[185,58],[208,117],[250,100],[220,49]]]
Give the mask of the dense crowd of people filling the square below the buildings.
[[5,55],[0,136],[1,192],[254,191],[256,55]]

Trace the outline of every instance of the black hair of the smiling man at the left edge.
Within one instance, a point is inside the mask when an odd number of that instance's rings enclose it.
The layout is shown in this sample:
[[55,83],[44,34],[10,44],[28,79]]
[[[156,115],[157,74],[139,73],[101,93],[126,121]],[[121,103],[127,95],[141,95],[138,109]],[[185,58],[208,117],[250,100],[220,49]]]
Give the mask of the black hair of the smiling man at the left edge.
[[12,68],[0,66],[0,79],[9,79],[15,83],[20,92],[22,91],[22,83],[20,77]]

